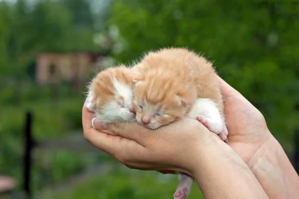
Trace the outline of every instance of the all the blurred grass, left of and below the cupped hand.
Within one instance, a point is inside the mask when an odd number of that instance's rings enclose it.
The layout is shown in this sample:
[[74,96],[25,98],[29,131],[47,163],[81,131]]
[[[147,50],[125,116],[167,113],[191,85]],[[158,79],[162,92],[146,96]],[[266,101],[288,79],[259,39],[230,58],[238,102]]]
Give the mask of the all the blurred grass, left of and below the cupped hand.
[[[43,92],[44,95],[49,95],[46,90]],[[12,94],[8,93],[2,101],[9,102]],[[49,97],[37,99],[37,96],[39,95],[28,92],[25,95],[26,100],[21,100],[21,104],[0,106],[0,174],[14,177],[19,182],[18,188],[22,180],[23,133],[27,110],[33,113],[32,131],[37,140],[59,139],[69,136],[72,131],[82,131],[83,98],[63,96],[56,103]],[[34,194],[49,185],[64,182],[88,165],[116,162],[108,155],[60,150],[35,150],[33,160]],[[177,185],[177,176],[114,169],[77,184],[67,193],[49,192],[45,199],[169,199],[172,198]],[[194,183],[188,199],[202,198],[199,188]]]

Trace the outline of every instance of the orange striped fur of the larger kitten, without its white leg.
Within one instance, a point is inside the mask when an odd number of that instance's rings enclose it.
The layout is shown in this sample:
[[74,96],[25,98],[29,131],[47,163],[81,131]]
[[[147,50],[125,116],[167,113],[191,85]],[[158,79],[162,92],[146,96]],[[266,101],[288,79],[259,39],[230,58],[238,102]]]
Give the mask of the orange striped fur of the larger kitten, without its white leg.
[[224,117],[218,77],[205,58],[184,48],[164,48],[149,52],[135,67],[140,73],[133,106],[139,123],[145,116],[151,129],[174,122],[189,113],[197,98],[211,99]]

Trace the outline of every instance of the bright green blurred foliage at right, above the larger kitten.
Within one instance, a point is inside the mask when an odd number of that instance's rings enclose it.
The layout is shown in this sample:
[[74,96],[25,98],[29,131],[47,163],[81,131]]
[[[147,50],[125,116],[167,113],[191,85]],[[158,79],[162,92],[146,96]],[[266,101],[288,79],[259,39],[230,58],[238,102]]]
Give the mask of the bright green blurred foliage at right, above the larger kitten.
[[291,0],[117,0],[109,24],[119,27],[127,48],[115,57],[131,63],[167,46],[203,53],[290,147],[299,117],[298,6]]

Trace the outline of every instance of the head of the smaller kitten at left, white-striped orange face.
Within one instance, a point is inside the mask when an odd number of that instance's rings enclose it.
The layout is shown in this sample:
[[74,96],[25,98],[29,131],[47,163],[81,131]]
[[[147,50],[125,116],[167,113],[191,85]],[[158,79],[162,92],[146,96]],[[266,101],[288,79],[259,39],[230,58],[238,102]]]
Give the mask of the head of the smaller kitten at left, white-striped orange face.
[[97,74],[89,85],[86,107],[104,123],[133,122],[136,113],[132,105],[132,69],[121,65]]

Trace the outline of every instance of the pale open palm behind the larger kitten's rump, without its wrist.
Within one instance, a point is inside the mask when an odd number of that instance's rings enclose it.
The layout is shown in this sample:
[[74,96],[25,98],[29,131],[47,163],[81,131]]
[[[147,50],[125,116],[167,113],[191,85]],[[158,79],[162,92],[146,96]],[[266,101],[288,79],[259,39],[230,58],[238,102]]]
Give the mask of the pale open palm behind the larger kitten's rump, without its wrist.
[[224,97],[228,145],[248,163],[257,150],[271,137],[262,113],[238,91],[220,79]]

